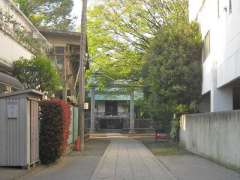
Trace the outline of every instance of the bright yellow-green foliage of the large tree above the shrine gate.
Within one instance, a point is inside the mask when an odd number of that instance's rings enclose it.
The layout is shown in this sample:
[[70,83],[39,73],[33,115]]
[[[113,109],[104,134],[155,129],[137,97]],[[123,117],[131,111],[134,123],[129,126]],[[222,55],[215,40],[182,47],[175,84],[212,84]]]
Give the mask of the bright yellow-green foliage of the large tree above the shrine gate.
[[[90,75],[141,85],[142,56],[163,24],[185,17],[185,0],[108,0],[88,12]],[[98,76],[98,85],[109,80]]]

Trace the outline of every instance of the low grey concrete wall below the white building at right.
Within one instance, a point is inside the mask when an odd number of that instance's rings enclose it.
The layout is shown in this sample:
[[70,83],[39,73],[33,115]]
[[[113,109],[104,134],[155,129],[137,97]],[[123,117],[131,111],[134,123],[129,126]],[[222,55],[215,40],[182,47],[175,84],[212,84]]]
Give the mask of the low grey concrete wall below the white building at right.
[[240,169],[240,111],[186,115],[180,143],[189,151]]

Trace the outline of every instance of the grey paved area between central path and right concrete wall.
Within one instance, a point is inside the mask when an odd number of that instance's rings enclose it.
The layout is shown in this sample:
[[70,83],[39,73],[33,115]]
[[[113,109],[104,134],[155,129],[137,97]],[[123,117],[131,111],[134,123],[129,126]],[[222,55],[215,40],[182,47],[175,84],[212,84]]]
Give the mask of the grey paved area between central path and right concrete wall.
[[158,158],[178,180],[240,180],[239,173],[192,154]]

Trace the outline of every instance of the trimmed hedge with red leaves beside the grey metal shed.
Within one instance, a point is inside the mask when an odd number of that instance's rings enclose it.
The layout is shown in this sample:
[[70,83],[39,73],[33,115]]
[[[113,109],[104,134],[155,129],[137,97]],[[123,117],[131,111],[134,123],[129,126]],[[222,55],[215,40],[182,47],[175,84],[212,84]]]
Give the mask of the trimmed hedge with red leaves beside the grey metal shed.
[[50,164],[66,152],[70,106],[58,99],[43,101],[40,106],[40,161],[42,164]]

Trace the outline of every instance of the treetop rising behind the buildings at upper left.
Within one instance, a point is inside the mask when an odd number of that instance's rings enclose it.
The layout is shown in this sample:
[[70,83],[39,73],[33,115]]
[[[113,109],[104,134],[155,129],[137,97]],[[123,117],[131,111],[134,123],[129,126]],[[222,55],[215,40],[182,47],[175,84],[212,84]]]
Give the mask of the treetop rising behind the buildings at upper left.
[[72,0],[15,0],[37,27],[72,29]]

